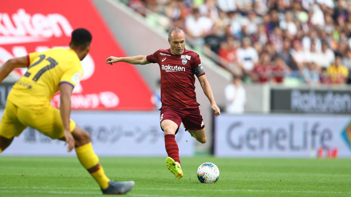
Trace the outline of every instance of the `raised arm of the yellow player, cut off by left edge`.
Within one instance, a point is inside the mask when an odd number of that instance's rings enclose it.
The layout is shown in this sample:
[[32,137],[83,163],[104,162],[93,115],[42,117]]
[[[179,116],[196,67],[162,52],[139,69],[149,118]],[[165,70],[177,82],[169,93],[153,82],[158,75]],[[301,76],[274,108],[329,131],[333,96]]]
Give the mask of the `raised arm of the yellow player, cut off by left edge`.
[[0,68],[0,83],[15,68],[26,68],[28,66],[27,56],[15,57],[7,60]]

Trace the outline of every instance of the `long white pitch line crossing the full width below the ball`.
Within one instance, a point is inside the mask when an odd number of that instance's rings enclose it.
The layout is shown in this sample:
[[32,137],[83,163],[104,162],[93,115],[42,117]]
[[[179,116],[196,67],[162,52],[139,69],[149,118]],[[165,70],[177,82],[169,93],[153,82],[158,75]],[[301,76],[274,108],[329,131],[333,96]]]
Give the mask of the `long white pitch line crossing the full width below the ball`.
[[[53,189],[49,187],[0,187],[3,189]],[[99,188],[55,188],[66,190],[96,190]],[[133,188],[133,190],[177,190],[177,191],[224,191],[224,192],[282,192],[282,193],[330,193],[351,194],[351,191],[302,191],[302,190],[251,190],[251,189],[175,189],[175,188]],[[4,191],[4,190],[1,190]],[[167,195],[168,196],[168,195]]]

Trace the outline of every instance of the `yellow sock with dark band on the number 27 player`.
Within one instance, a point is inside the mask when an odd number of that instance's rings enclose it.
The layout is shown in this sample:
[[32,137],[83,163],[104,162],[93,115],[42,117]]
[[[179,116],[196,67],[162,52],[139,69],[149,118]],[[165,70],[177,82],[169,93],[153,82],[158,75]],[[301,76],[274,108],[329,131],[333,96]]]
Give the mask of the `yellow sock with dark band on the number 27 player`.
[[88,170],[91,176],[99,183],[102,189],[108,187],[109,178],[105,175],[99,158],[95,155],[91,142],[75,148],[80,163]]

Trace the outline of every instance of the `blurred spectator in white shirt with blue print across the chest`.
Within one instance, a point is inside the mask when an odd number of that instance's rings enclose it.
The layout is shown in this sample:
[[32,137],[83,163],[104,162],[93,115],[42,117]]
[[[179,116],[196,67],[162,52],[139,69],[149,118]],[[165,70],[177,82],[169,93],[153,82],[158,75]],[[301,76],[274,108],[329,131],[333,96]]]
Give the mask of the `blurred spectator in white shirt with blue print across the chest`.
[[258,54],[255,48],[251,47],[250,38],[243,39],[242,47],[238,49],[239,62],[246,73],[250,73],[254,64],[258,62]]

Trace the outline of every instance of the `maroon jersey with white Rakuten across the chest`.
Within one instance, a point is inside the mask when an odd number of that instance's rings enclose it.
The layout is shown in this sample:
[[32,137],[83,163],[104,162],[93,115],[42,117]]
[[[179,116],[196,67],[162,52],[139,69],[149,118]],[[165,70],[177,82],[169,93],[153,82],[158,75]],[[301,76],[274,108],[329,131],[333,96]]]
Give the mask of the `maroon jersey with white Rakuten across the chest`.
[[183,54],[174,55],[171,49],[159,49],[146,59],[160,66],[162,109],[198,108],[194,75],[205,74],[199,54],[184,49]]

